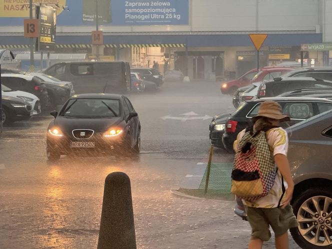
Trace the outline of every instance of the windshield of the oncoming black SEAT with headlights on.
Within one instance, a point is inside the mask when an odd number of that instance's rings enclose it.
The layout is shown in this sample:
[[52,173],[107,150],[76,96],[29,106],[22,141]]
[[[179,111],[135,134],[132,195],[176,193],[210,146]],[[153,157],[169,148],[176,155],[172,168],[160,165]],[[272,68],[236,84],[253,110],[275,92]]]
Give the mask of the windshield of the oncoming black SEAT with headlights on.
[[107,118],[119,115],[118,99],[69,99],[60,116],[81,118]]

